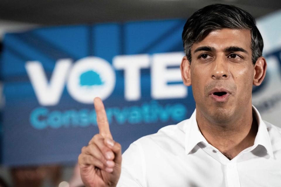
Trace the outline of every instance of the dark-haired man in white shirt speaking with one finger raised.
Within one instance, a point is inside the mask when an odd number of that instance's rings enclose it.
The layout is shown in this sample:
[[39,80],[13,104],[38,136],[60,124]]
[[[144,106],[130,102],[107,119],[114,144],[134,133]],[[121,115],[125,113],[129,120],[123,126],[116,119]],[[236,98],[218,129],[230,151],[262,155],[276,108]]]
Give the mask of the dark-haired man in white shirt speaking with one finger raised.
[[252,85],[266,72],[254,18],[235,6],[206,6],[187,20],[182,38],[181,75],[196,102],[191,118],[132,143],[121,169],[121,146],[95,98],[100,134],[78,158],[85,185],[281,186],[281,129],[252,106]]

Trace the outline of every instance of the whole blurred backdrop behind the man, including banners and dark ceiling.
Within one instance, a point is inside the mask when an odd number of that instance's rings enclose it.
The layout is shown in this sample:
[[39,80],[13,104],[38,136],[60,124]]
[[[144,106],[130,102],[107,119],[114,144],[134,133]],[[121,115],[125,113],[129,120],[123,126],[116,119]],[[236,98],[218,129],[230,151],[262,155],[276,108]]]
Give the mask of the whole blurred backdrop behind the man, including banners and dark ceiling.
[[96,96],[123,152],[189,118],[181,32],[213,3],[256,18],[268,71],[253,104],[281,127],[281,1],[0,1],[0,186],[82,186],[75,166],[98,133]]

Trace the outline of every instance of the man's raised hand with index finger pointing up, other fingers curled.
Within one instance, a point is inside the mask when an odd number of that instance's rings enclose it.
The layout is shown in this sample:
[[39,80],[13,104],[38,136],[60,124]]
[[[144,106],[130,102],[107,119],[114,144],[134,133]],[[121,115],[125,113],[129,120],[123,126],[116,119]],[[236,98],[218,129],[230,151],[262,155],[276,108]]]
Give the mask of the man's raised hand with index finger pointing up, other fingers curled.
[[121,173],[121,145],[112,139],[102,100],[95,98],[94,104],[100,133],[78,157],[81,178],[87,187],[116,186]]

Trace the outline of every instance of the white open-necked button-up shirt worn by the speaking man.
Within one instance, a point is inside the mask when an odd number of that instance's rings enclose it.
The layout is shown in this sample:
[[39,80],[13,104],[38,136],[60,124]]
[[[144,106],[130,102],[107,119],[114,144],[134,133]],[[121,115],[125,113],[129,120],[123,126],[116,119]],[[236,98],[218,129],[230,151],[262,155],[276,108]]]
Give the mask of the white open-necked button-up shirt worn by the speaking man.
[[122,155],[118,187],[280,187],[281,129],[261,119],[254,145],[232,160],[210,145],[196,122],[169,125],[133,142]]

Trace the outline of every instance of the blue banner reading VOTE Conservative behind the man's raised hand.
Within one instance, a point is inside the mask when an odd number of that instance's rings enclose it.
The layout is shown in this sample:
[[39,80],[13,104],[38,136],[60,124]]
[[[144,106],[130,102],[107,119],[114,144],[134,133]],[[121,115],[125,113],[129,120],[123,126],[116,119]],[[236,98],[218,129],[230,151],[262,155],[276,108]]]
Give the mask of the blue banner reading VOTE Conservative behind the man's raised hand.
[[98,133],[96,96],[123,151],[141,136],[189,118],[195,103],[179,69],[184,23],[59,26],[6,34],[3,164],[76,162]]

